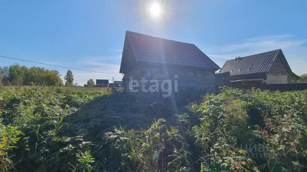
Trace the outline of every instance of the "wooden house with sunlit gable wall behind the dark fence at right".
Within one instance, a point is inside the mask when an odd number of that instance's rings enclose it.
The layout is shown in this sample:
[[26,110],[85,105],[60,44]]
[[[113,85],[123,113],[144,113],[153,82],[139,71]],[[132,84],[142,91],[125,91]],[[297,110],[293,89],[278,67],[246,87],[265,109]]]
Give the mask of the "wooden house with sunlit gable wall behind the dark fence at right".
[[297,83],[281,49],[227,60],[219,73],[230,72],[232,84]]

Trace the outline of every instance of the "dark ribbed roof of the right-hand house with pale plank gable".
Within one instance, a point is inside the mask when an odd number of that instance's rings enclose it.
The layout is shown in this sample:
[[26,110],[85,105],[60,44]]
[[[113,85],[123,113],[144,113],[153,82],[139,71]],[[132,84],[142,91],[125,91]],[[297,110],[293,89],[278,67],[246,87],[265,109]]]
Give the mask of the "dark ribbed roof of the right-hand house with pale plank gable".
[[227,60],[220,72],[229,71],[230,76],[267,73],[273,64],[273,61],[279,54],[281,55],[280,57],[282,58],[281,60],[286,71],[294,77],[299,78],[290,69],[281,49]]

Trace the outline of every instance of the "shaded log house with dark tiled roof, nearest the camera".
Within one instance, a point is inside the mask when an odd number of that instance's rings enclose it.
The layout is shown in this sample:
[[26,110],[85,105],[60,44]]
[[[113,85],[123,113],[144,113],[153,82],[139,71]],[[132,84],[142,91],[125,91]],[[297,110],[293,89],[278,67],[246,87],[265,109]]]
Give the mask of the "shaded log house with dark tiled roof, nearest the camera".
[[[220,67],[194,44],[126,31],[119,71],[124,74],[122,80],[126,91],[136,89],[129,84],[130,80],[141,80],[142,77],[146,80],[177,80],[178,90],[214,90],[214,75],[218,69]],[[149,83],[145,87],[148,88]],[[142,84],[138,88],[142,88]]]

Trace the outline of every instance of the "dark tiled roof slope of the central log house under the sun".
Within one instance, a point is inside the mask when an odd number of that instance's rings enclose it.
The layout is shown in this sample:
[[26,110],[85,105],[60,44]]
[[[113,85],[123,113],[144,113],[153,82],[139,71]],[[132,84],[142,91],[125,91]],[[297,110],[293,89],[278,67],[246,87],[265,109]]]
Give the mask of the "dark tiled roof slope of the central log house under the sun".
[[206,54],[194,44],[162,39],[136,32],[126,32],[137,62],[181,65],[218,70]]

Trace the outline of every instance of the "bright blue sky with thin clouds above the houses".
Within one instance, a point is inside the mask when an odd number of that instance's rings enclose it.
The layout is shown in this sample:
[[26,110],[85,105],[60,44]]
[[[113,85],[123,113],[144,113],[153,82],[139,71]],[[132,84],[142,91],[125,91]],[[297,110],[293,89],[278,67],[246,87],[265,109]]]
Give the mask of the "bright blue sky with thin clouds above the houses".
[[[151,4],[161,6],[153,17]],[[126,30],[193,43],[220,67],[227,59],[281,48],[307,65],[307,1],[1,1],[0,55],[119,73]],[[0,65],[38,65],[0,57]],[[68,69],[57,69],[64,78]],[[121,75],[72,70],[75,81]],[[293,69],[301,75],[307,67]]]

